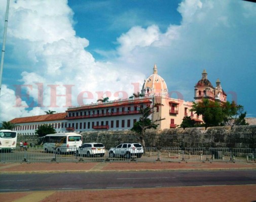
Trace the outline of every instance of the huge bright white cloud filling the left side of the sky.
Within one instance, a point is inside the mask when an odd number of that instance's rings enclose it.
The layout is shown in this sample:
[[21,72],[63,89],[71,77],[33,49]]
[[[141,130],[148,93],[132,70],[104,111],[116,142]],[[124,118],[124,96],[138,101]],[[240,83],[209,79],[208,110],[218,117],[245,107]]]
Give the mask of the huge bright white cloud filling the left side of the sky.
[[[19,94],[27,102],[22,106],[34,108],[28,112],[13,107],[13,113],[1,113],[1,120],[44,114],[42,112],[48,109],[64,112],[70,105],[96,102],[101,95],[116,99],[133,93],[131,83],[143,75],[138,73],[130,77],[133,72],[129,69],[120,71],[122,65],[116,67],[111,63],[95,62],[84,49],[89,41],[75,36],[71,16],[66,1],[11,2],[8,43],[11,41],[15,53],[22,55],[20,60],[29,64],[21,74],[23,86],[16,88],[22,89]],[[26,99],[25,91],[33,97],[33,105],[30,99]],[[106,91],[108,94],[104,94]],[[9,93],[12,95],[6,96]],[[13,93],[6,89],[5,103],[14,102]],[[39,110],[38,106],[45,107]]]

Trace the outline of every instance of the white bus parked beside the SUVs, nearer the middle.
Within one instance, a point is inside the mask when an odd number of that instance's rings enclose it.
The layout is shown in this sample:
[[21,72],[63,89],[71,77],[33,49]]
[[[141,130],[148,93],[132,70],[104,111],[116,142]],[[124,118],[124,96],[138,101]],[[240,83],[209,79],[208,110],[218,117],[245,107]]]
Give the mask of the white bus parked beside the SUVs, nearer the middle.
[[82,145],[82,135],[67,132],[46,135],[44,138],[44,150],[56,151],[57,154],[73,153]]

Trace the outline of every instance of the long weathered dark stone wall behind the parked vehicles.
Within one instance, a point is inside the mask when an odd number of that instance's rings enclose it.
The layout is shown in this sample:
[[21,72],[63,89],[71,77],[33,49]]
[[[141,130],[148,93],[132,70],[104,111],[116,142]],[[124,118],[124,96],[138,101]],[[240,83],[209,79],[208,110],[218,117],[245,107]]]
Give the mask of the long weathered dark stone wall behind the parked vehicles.
[[[90,131],[82,132],[83,142],[101,142],[106,148],[123,142],[139,142],[139,137],[132,131]],[[39,141],[34,135],[20,135],[19,140],[28,143]],[[147,130],[147,147],[237,147],[256,148],[256,125],[224,126],[201,128],[174,128]]]

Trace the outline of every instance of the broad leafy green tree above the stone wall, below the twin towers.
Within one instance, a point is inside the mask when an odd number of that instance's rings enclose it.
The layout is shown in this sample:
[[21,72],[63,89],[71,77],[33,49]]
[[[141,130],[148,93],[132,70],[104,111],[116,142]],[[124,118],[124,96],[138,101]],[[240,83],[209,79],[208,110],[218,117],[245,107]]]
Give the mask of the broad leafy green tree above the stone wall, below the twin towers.
[[232,103],[228,101],[220,103],[217,100],[213,102],[209,99],[203,99],[200,103],[193,103],[191,111],[203,116],[206,127],[245,123],[246,113],[244,114],[243,107],[236,105],[234,101]]

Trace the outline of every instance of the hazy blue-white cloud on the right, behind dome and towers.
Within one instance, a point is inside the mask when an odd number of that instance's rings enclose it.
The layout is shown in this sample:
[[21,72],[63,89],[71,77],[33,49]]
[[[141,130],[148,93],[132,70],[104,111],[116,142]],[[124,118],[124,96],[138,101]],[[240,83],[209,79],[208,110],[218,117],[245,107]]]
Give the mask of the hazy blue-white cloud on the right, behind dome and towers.
[[[186,100],[193,100],[194,85],[206,69],[213,85],[220,78],[226,92],[237,94],[239,104],[245,109],[246,105],[253,106],[249,100],[256,97],[245,90],[250,85],[244,81],[256,85],[255,73],[251,72],[256,62],[252,54],[256,52],[256,4],[187,0],[178,11],[182,16],[180,25],[170,24],[165,33],[154,25],[155,38],[147,31],[151,26],[140,28],[139,32],[133,27],[124,33],[117,40],[121,56],[117,61],[126,67],[140,67],[142,72],[149,72],[156,62],[168,90],[179,91]],[[152,40],[141,45],[143,38]]]

